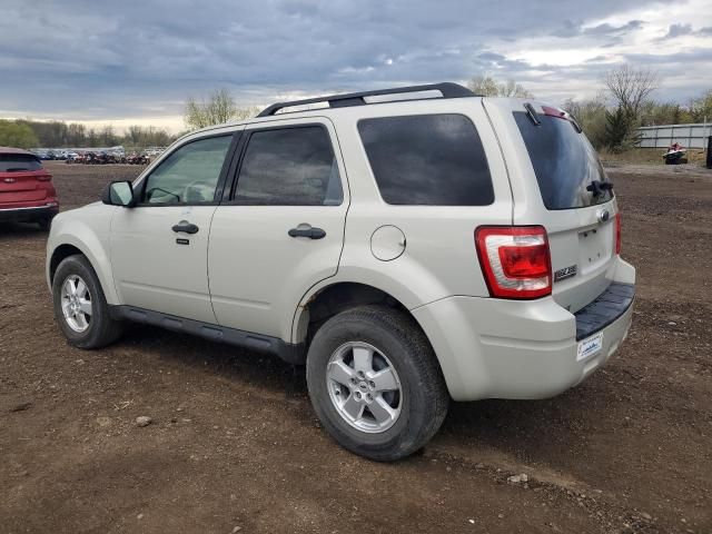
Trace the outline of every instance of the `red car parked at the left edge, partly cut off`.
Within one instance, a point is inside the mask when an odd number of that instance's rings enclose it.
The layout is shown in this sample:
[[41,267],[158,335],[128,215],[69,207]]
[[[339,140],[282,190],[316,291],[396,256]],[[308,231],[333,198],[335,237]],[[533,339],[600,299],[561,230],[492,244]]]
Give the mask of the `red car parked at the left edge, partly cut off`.
[[32,152],[0,147],[0,222],[38,222],[49,229],[59,212],[52,175]]

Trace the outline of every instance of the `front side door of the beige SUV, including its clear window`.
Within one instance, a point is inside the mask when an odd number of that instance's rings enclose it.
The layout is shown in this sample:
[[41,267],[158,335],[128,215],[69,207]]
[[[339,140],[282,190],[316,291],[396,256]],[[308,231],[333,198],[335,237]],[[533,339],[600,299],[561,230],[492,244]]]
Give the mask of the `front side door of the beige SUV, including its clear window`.
[[123,304],[215,324],[208,236],[237,135],[178,147],[136,185],[138,204],[116,210],[111,264]]

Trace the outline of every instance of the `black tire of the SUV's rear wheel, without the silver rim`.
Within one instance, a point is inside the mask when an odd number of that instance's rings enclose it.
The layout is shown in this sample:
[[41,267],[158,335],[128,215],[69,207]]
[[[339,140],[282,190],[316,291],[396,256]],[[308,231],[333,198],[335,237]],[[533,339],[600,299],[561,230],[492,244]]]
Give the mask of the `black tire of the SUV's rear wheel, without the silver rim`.
[[[337,411],[327,385],[329,358],[344,344],[359,342],[386,355],[402,389],[400,414],[387,429],[367,433]],[[360,306],[328,319],[307,354],[309,397],[322,424],[345,448],[389,462],[422,448],[438,431],[449,404],[439,365],[425,334],[412,317],[386,306]]]

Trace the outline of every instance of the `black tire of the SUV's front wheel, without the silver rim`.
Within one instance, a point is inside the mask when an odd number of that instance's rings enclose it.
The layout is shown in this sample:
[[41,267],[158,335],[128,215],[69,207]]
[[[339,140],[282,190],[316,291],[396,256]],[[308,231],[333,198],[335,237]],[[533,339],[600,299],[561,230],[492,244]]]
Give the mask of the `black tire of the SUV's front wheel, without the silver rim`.
[[[72,275],[79,276],[86,283],[91,299],[89,326],[83,332],[72,329],[62,313],[61,288],[67,278]],[[52,297],[57,323],[67,340],[75,347],[101,348],[121,336],[123,325],[120,320],[111,317],[99,278],[85,256],[80,254],[69,256],[59,264],[52,280]]]

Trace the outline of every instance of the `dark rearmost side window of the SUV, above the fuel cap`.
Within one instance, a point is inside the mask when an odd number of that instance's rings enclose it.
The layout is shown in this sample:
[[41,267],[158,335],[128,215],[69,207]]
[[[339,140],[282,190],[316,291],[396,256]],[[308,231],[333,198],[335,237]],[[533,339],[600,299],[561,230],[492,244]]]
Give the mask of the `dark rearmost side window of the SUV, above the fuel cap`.
[[363,119],[358,132],[386,202],[486,206],[494,201],[484,147],[467,117]]

